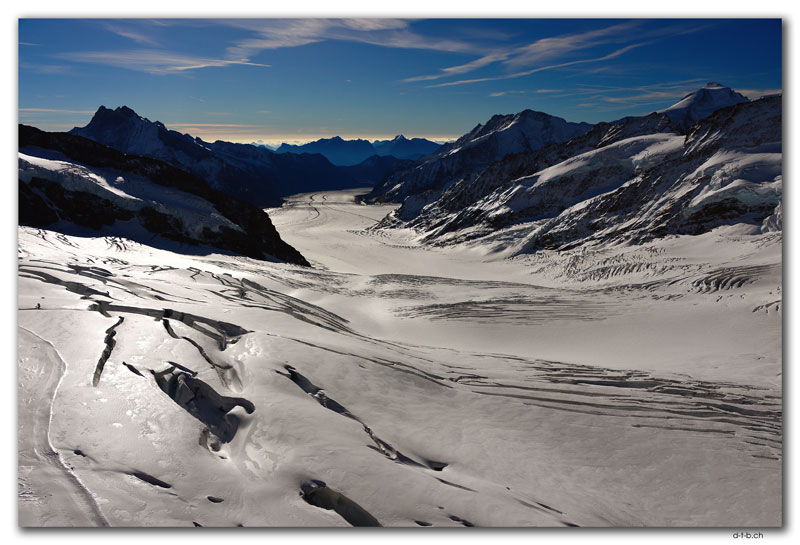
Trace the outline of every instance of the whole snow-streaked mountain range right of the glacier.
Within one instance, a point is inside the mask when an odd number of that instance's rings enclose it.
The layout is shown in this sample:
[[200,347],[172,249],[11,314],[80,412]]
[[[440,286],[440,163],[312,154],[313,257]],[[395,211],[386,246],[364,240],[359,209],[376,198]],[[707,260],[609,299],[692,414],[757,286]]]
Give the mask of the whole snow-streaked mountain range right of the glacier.
[[780,96],[751,102],[709,83],[661,112],[594,126],[495,116],[365,199],[402,203],[379,228],[433,244],[499,237],[511,254],[734,223],[780,230],[781,148]]

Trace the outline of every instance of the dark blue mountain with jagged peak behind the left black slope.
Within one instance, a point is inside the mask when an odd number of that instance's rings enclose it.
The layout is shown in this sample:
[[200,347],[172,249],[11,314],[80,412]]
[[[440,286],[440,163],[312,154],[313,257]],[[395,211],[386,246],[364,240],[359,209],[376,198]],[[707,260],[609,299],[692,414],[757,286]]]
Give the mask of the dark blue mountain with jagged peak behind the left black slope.
[[167,129],[126,106],[101,106],[83,136],[124,153],[153,157],[206,180],[212,187],[258,206],[278,206],[294,193],[354,187],[345,173],[321,155],[277,154],[267,148],[204,142]]

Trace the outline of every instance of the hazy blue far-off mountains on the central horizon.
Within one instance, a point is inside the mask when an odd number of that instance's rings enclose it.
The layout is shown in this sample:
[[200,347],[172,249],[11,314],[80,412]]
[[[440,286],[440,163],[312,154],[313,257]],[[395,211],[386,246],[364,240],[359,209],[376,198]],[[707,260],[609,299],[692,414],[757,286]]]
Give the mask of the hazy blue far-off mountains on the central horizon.
[[392,156],[396,159],[419,159],[423,155],[434,153],[440,144],[424,138],[408,139],[402,134],[392,140],[344,140],[339,136],[322,138],[301,145],[281,144],[276,153],[319,153],[328,158],[334,165],[352,166],[377,155]]

